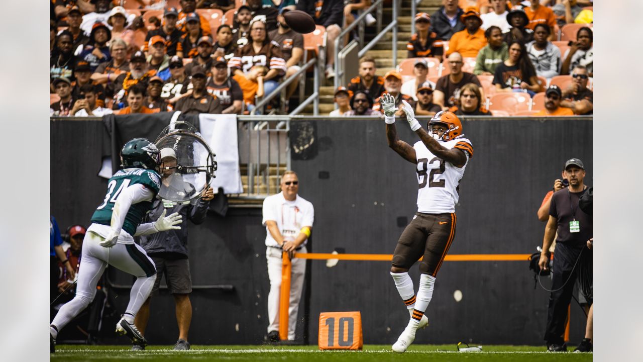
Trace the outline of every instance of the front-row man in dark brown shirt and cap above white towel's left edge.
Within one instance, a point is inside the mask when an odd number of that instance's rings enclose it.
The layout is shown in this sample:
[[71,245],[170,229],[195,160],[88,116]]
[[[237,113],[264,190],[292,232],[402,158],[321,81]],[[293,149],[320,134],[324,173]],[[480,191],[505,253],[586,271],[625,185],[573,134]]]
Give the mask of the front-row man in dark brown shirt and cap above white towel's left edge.
[[174,110],[181,111],[186,115],[198,115],[199,113],[221,113],[223,110],[219,100],[208,93],[205,86],[206,73],[200,66],[192,70],[192,93],[179,99]]

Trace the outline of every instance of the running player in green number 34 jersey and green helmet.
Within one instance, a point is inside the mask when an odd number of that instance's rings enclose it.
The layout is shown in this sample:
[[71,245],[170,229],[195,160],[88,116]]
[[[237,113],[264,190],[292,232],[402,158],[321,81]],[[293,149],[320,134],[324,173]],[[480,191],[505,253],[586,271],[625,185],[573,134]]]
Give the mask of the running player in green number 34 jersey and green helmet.
[[159,150],[145,138],[134,138],[121,151],[122,170],[109,179],[107,195],[98,205],[87,228],[82,246],[78,285],[73,300],[63,305],[50,325],[51,352],[56,336],[71,319],[82,312],[94,299],[96,283],[107,265],[136,276],[129,305],[116,324],[116,333],[132,339],[132,343],[147,345],[134,326],[134,316],[149,297],[156,280],[156,267],[143,248],[134,243],[133,236],[181,229],[181,215],[165,216],[156,222],[141,224],[152,208],[158,194],[160,176]]

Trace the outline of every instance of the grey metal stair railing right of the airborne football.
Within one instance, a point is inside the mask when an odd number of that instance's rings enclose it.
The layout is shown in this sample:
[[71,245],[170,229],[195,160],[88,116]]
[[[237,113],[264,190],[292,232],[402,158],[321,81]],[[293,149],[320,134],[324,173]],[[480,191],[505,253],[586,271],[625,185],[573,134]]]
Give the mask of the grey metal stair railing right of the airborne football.
[[[335,66],[335,77],[334,77],[334,89],[337,89],[338,86],[340,86],[340,77],[343,75],[343,68],[340,67],[340,51],[344,48],[343,46],[340,47],[340,44],[343,44],[343,39],[344,37],[349,34],[356,26],[358,26],[366,17],[367,14],[372,13],[373,11],[377,11],[377,21],[378,21],[378,30],[381,28],[381,6],[383,4],[384,0],[377,0],[373,5],[370,6],[367,10],[364,10],[361,15],[355,21],[353,21],[352,24],[347,26],[340,35],[335,39],[335,53],[333,54],[334,57],[334,66]],[[399,0],[393,0],[392,3],[392,8],[393,8],[393,19],[391,20],[391,23],[386,26],[383,30],[377,33],[376,37],[374,37],[368,44],[363,46],[361,50],[359,50],[358,56],[363,57],[370,48],[375,46],[377,42],[382,39],[382,37],[388,33],[389,31],[392,30],[393,32],[393,39],[392,39],[392,48],[393,48],[393,66],[397,66],[397,9],[399,7]]]

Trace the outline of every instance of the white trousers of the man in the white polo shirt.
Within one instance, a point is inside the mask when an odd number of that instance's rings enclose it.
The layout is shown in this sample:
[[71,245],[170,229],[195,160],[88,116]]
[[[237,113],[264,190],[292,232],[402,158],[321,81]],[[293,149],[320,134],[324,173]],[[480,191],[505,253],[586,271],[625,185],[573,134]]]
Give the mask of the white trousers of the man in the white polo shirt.
[[[302,247],[296,252],[307,252]],[[268,333],[279,330],[279,295],[281,292],[282,250],[266,247],[268,262],[268,278],[270,292],[268,294]],[[306,260],[293,258],[293,269],[290,277],[290,305],[288,307],[288,339],[294,341],[294,329],[297,325],[299,301],[302,298],[303,277],[306,274]]]

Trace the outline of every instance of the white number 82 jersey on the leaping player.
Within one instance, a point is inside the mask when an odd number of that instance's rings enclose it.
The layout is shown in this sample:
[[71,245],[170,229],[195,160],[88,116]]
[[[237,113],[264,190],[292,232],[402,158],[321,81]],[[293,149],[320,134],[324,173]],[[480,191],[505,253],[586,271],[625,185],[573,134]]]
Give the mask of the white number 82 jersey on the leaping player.
[[427,214],[455,213],[458,203],[458,184],[464,169],[473,157],[473,146],[467,138],[460,137],[448,142],[440,141],[445,148],[462,149],[467,156],[464,166],[458,168],[436,157],[422,141],[415,142],[417,158],[417,211]]

